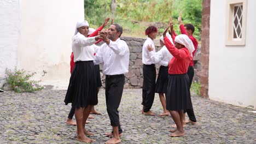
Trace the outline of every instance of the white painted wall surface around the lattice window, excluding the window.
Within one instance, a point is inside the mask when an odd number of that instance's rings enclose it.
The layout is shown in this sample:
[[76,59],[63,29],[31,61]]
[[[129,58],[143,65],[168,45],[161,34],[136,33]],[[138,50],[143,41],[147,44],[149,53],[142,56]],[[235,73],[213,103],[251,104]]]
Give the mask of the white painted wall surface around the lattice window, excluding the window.
[[256,1],[247,0],[246,45],[225,45],[226,1],[211,1],[209,98],[256,109]]

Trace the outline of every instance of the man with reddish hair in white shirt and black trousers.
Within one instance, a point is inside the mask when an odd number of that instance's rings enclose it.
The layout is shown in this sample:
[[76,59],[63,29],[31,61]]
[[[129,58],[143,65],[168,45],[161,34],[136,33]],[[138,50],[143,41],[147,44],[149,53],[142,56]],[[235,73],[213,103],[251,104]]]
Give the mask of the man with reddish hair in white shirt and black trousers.
[[156,38],[156,33],[158,28],[155,26],[150,26],[146,29],[145,34],[148,35],[147,40],[144,42],[142,47],[142,63],[143,63],[143,88],[142,88],[142,113],[144,115],[154,116],[155,113],[150,111],[154,98],[155,98],[155,78],[156,69],[155,64],[149,56],[149,51],[147,47],[150,45],[153,47],[155,52],[155,45],[153,39]]

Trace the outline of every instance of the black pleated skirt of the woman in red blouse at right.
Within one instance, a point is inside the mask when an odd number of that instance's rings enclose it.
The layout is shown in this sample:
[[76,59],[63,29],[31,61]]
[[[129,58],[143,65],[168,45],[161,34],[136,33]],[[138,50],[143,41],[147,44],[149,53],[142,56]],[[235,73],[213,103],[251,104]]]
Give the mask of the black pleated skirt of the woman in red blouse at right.
[[166,109],[171,111],[193,109],[187,74],[169,74]]

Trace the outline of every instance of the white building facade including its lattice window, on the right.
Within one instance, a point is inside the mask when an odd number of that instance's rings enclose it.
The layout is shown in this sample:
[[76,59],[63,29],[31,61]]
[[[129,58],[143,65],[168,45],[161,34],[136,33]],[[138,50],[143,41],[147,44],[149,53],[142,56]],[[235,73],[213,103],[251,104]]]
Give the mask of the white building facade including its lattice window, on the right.
[[256,109],[254,0],[212,0],[208,97]]

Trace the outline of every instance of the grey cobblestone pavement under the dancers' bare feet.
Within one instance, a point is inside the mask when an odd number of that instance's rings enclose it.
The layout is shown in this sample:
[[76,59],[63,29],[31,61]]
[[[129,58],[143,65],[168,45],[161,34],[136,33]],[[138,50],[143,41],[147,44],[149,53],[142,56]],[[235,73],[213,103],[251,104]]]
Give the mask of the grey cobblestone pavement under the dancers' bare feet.
[[[82,143],[75,140],[76,127],[65,124],[70,105],[63,103],[66,91],[43,90],[36,93],[0,93],[0,143]],[[121,143],[256,143],[256,114],[251,109],[219,103],[193,95],[194,111],[199,125],[188,124],[185,135],[169,137],[171,116],[144,116],[141,110],[142,89],[124,89],[119,107]],[[109,137],[109,117],[104,90],[98,96],[96,110],[86,128],[96,135],[94,143]],[[162,112],[158,94],[152,110]]]

